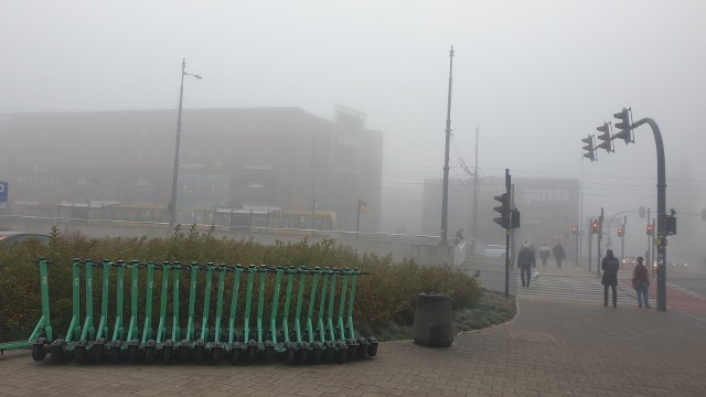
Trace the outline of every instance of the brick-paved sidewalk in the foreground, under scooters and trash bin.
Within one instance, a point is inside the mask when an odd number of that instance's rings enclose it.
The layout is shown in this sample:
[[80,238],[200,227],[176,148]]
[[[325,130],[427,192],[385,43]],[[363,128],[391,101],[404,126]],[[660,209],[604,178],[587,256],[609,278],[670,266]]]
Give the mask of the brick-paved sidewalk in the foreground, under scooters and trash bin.
[[0,396],[703,396],[706,324],[676,312],[521,300],[448,348],[383,343],[343,365],[52,365],[0,360]]

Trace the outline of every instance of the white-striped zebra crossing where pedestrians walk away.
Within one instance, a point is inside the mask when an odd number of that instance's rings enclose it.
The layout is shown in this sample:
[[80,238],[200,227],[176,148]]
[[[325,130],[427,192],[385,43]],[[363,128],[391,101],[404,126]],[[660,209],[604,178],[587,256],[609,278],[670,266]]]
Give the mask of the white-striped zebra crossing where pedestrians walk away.
[[[575,301],[592,304],[603,304],[603,286],[600,278],[595,276],[558,276],[541,275],[532,280],[530,288],[522,287],[520,273],[517,278],[517,297],[521,299],[543,299],[553,301]],[[609,303],[612,291],[609,292]],[[618,285],[618,305],[635,304],[632,289]]]

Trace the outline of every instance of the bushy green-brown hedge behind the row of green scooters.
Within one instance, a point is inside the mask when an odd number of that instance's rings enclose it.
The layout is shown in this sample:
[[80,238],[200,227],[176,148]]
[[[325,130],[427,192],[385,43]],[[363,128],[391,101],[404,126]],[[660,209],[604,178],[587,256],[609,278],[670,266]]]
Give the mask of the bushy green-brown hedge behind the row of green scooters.
[[[393,264],[392,258],[377,257],[371,254],[359,254],[349,246],[339,246],[334,240],[309,243],[303,238],[299,243],[277,242],[275,245],[263,245],[252,239],[216,238],[211,232],[199,233],[195,227],[186,230],[178,228],[170,238],[89,238],[81,234],[62,235],[57,229],[51,232],[49,246],[34,242],[19,244],[9,249],[0,249],[0,342],[26,339],[41,316],[41,290],[38,259],[46,258],[49,266],[49,289],[51,319],[54,337],[63,336],[72,316],[72,259],[92,259],[100,262],[138,260],[139,262],[179,261],[182,265],[197,262],[215,266],[224,265],[268,265],[282,267],[320,267],[360,269],[367,275],[357,279],[354,302],[356,328],[375,330],[391,323],[411,325],[414,322],[415,300],[420,292],[445,293],[451,298],[452,309],[473,308],[478,305],[482,289],[474,276],[469,276],[450,266],[426,267],[414,260]],[[94,312],[100,308],[101,270],[94,272]],[[211,311],[216,289],[216,273],[212,286]],[[159,286],[161,275],[156,278]],[[189,305],[189,271],[181,271],[180,315],[186,315]],[[110,279],[110,294],[114,297],[116,282]],[[245,278],[244,278],[245,279]],[[145,271],[140,272],[140,285],[145,286]],[[242,280],[242,282],[245,282]],[[308,280],[311,282],[311,280]],[[83,293],[84,275],[82,273],[82,319],[84,315]],[[268,279],[268,291],[272,281]],[[126,286],[128,278],[126,277]],[[243,286],[243,285],[242,285]],[[141,289],[143,290],[143,289]],[[240,287],[240,291],[243,291]],[[199,281],[196,297],[203,298],[205,285]],[[233,285],[227,283],[225,297],[231,297]],[[126,307],[129,305],[129,291],[126,287]],[[282,310],[282,298],[278,310]],[[309,294],[308,292],[306,293]],[[156,289],[154,300],[159,298]],[[171,300],[170,293],[170,308]],[[271,294],[266,297],[269,315],[272,307]],[[200,300],[200,299],[199,299]],[[229,298],[226,299],[229,304]],[[338,297],[336,297],[338,301]],[[140,293],[140,315],[143,318],[145,293]],[[200,304],[197,303],[199,308]],[[242,308],[242,307],[240,307]],[[110,300],[109,313],[115,313],[115,299]],[[127,310],[127,308],[126,308]],[[201,309],[199,309],[201,310]],[[224,313],[228,313],[228,308]],[[318,309],[317,309],[318,310]],[[201,313],[196,313],[201,315]],[[214,313],[212,313],[214,315]],[[109,316],[110,318],[110,316]],[[292,315],[290,315],[291,320]]]

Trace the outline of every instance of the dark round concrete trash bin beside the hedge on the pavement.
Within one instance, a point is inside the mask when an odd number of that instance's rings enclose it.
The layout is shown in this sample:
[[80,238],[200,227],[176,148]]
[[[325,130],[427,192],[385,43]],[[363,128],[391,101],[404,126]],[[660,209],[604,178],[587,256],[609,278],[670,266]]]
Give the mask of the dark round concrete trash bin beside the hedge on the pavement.
[[436,292],[417,294],[414,339],[416,344],[428,347],[449,347],[453,343],[449,297]]

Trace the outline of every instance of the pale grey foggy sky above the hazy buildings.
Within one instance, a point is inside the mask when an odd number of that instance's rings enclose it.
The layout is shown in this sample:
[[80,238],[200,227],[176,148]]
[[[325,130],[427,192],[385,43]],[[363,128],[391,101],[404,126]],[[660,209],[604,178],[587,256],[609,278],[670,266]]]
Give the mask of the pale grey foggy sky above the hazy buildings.
[[[453,45],[451,178],[477,127],[485,175],[578,176],[580,139],[630,106],[662,129],[672,206],[706,190],[704,17],[698,0],[0,0],[0,112],[176,108],[185,56],[204,76],[185,108],[363,111],[385,133],[384,187],[405,192],[441,175]],[[586,213],[655,207],[650,129],[635,140],[584,162]]]

